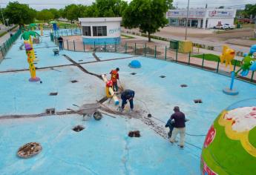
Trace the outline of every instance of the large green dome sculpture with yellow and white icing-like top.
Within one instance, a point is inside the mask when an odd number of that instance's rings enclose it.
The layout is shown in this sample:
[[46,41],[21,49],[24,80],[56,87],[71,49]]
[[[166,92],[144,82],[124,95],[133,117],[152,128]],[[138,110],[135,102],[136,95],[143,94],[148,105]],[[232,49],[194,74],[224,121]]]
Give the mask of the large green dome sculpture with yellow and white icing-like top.
[[201,154],[202,175],[256,174],[256,99],[223,110],[209,129]]

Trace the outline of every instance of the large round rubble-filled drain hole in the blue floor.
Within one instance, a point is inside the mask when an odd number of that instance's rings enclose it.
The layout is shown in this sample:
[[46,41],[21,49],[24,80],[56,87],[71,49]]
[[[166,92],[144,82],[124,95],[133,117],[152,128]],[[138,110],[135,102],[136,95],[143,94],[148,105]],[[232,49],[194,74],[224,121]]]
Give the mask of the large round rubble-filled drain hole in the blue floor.
[[35,156],[36,154],[42,151],[42,146],[38,142],[30,142],[18,150],[18,156],[22,158],[29,158],[31,156]]

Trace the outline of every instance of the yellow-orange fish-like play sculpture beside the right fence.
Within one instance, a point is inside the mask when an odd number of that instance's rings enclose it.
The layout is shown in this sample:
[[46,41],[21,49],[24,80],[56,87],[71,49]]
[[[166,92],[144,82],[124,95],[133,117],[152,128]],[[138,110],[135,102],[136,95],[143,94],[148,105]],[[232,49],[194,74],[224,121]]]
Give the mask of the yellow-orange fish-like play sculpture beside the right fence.
[[223,52],[220,55],[220,62],[226,63],[226,67],[229,65],[230,71],[232,71],[232,60],[234,59],[234,50],[229,48],[227,45],[223,45]]

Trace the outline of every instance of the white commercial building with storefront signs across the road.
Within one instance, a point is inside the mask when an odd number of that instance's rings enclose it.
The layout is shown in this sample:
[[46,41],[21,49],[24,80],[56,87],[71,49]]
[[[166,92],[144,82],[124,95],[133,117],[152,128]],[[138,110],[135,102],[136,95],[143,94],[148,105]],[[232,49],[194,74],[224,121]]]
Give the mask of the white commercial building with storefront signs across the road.
[[[213,28],[217,24],[234,24],[235,9],[206,9],[188,10],[188,27]],[[171,26],[186,26],[187,10],[168,10],[166,18]]]

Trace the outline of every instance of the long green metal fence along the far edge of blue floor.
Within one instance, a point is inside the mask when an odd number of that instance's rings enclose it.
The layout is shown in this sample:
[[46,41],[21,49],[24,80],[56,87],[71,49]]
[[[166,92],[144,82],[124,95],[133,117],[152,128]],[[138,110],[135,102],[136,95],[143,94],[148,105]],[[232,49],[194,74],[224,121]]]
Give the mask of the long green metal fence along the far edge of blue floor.
[[[80,41],[79,41],[80,40]],[[58,45],[58,39],[55,37],[55,43]],[[134,56],[146,56],[154,59],[162,59],[168,62],[176,62],[182,65],[197,67],[203,70],[208,70],[213,73],[219,73],[225,76],[230,76],[230,68],[225,64],[220,63],[220,58],[211,61],[202,54],[203,58],[197,58],[194,55],[197,53],[179,53],[178,49],[171,49],[165,45],[154,45],[147,42],[121,42],[120,44],[85,44],[81,41],[81,36],[64,37],[63,49],[80,52],[112,52],[112,53],[127,53]],[[237,71],[242,65],[241,61],[233,60],[232,70]],[[250,71],[247,76],[237,76],[246,82],[256,83],[255,72]],[[239,74],[238,74],[239,75]]]

